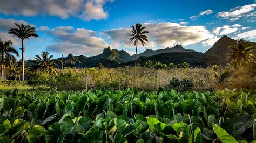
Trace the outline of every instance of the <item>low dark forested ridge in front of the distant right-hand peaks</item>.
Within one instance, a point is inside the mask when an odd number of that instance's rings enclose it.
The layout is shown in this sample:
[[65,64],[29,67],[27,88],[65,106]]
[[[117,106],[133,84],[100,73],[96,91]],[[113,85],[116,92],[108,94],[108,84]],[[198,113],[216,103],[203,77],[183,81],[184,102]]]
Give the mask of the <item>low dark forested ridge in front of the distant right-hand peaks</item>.
[[[208,55],[199,52],[187,52],[187,53],[161,53],[158,55],[153,55],[150,57],[140,57],[137,62],[140,65],[144,65],[147,60],[152,61],[153,63],[160,61],[161,63],[174,63],[175,65],[183,62],[190,63],[191,66],[212,66],[214,64],[225,65],[226,61],[221,59],[216,55]],[[134,61],[126,63],[126,65],[133,65]]]

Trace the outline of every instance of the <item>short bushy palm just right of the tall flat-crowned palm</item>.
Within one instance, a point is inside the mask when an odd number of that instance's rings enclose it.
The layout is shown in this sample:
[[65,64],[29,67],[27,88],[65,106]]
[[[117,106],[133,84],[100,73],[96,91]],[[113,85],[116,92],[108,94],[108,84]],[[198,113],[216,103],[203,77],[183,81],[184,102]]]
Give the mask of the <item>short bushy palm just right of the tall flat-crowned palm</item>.
[[36,69],[39,71],[46,71],[48,73],[54,73],[56,74],[56,68],[55,63],[51,61],[53,58],[53,55],[50,55],[48,52],[42,51],[41,56],[36,55],[35,56],[35,63],[36,63]]

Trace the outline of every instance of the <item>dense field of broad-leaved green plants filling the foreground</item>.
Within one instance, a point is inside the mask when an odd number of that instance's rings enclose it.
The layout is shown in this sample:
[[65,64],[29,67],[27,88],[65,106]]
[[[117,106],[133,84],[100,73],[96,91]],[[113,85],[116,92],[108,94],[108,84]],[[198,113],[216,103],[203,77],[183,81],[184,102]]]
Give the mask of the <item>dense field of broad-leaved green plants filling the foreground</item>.
[[1,92],[0,142],[253,141],[255,91]]

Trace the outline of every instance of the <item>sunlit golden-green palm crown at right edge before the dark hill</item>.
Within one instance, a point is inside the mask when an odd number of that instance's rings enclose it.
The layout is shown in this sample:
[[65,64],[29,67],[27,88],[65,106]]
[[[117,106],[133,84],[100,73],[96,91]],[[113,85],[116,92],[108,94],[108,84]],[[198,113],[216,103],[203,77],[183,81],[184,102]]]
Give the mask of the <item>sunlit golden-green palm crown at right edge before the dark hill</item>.
[[232,63],[250,62],[254,60],[254,55],[251,53],[255,47],[250,42],[245,40],[236,40],[238,46],[229,46],[232,52],[227,53],[227,60],[231,59]]

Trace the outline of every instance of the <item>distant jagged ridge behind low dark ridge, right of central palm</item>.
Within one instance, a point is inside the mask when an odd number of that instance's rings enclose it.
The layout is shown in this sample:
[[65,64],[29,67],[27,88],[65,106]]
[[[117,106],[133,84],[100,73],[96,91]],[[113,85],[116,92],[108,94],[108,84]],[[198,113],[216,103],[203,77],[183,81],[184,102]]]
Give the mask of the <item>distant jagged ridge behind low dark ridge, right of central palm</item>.
[[[153,55],[157,55],[157,54],[161,54],[161,53],[171,53],[171,52],[178,52],[178,53],[183,53],[183,52],[196,52],[192,49],[185,49],[183,48],[181,45],[176,45],[172,48],[165,48],[165,49],[158,49],[158,50],[152,50],[152,49],[146,49],[146,51],[144,51],[143,53],[140,53],[137,55],[137,57],[140,56],[153,56]],[[135,58],[135,55],[132,56],[133,58]]]

